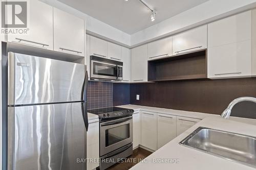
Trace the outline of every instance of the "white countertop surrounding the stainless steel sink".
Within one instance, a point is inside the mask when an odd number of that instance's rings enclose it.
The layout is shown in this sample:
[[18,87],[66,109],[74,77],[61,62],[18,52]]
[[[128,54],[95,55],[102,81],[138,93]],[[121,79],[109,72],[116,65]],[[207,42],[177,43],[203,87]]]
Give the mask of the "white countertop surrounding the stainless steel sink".
[[[172,141],[165,144],[162,148],[146,158],[146,161],[153,159],[179,159],[179,163],[138,163],[131,169],[189,169],[189,170],[216,170],[216,169],[232,169],[232,170],[249,170],[255,169],[241,163],[229,161],[214,155],[210,155],[201,151],[190,149],[179,144],[186,136],[196,130],[198,127],[208,127],[212,129],[224,130],[234,133],[256,136],[256,126],[245,123],[236,122],[221,117],[208,117],[201,120],[195,126],[177,136]],[[231,141],[230,141],[231,142]]]

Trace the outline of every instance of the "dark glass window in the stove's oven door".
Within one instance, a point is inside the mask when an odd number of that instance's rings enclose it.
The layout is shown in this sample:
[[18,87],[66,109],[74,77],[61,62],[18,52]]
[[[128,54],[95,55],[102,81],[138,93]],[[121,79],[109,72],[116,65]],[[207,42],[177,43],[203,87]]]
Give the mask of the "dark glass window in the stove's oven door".
[[121,125],[106,130],[106,147],[115,144],[124,139],[130,138],[130,124]]

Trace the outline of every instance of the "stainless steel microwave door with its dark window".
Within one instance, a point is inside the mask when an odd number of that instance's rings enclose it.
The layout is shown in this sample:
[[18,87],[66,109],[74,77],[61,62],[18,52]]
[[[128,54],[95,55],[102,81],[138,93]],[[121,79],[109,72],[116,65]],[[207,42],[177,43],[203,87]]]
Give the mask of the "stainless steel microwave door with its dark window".
[[117,80],[118,74],[117,65],[91,60],[91,78]]

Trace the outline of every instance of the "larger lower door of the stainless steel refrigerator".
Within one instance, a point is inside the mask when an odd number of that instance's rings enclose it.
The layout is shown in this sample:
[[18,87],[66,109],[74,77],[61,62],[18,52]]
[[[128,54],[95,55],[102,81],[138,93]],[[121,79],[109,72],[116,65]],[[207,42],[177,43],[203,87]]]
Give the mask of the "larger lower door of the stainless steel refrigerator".
[[86,169],[81,103],[8,108],[8,169]]

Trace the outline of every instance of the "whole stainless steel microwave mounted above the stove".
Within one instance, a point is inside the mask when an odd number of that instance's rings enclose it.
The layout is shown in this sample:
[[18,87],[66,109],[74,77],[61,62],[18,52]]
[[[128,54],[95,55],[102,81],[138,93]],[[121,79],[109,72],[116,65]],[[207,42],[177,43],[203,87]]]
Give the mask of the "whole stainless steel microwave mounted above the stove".
[[123,63],[120,61],[90,56],[91,80],[123,80]]

